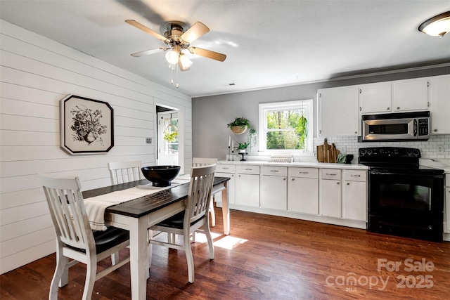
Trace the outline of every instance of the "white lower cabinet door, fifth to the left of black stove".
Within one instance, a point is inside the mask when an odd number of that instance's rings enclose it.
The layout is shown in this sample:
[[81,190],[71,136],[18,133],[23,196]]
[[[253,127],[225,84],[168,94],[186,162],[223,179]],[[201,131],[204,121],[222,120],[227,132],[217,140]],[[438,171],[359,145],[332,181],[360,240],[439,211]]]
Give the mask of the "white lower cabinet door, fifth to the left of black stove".
[[237,175],[235,201],[237,205],[259,207],[259,175]]

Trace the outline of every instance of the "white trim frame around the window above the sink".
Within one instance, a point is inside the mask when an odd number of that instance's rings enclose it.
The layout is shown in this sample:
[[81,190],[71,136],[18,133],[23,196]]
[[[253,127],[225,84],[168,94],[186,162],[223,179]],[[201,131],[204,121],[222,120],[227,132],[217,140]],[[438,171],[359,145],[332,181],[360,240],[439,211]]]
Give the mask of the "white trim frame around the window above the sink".
[[[307,108],[308,119],[308,138],[307,138],[307,150],[266,150],[267,137],[264,129],[266,128],[267,119],[264,115],[266,110],[283,109],[288,110],[290,108],[305,107]],[[260,103],[259,104],[259,124],[258,129],[258,155],[298,155],[298,156],[314,156],[314,103],[312,99],[307,100],[295,100],[273,103]]]

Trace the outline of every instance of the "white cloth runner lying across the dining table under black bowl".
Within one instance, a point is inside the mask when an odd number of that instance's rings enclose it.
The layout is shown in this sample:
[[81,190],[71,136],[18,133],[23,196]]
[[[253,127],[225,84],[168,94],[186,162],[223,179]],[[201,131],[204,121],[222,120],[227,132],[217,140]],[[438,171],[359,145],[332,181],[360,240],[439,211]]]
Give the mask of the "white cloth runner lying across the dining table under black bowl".
[[186,178],[186,176],[177,177],[174,181],[172,181],[172,185],[164,188],[158,188],[152,186],[152,183],[149,183],[148,185],[137,185],[136,187],[128,188],[127,190],[117,190],[113,193],[84,199],[84,207],[86,207],[86,213],[89,218],[91,228],[93,230],[106,230],[105,209],[107,207],[146,195],[151,195],[159,192],[160,190],[174,188],[176,185],[188,183],[190,180],[189,178],[190,177]]

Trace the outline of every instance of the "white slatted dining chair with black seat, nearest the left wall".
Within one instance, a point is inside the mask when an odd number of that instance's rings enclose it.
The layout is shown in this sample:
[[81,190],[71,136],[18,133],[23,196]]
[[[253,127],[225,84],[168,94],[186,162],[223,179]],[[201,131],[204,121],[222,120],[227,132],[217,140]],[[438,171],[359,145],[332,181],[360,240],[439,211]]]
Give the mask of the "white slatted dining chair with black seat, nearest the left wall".
[[114,227],[105,231],[91,230],[78,177],[55,178],[39,174],[39,178],[56,233],[56,269],[49,299],[58,299],[58,287],[68,284],[69,268],[79,262],[86,264],[82,299],[91,299],[96,280],[129,262],[127,256],[97,273],[98,261],[129,245],[129,231]]

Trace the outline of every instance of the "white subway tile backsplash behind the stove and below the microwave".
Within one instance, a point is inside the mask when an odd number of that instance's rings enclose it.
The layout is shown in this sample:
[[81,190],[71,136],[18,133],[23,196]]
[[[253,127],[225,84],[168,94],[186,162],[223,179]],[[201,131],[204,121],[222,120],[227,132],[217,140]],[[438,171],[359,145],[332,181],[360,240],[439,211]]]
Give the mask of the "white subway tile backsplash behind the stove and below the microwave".
[[[327,143],[335,143],[336,148],[341,152],[352,154],[358,157],[359,148],[368,147],[405,147],[418,148],[423,158],[448,159],[450,158],[450,134],[431,136],[428,141],[421,142],[374,142],[359,143],[356,136],[331,137],[327,138]],[[323,144],[323,138],[314,138],[314,151],[316,146]],[[444,147],[443,152],[437,152],[438,145]]]

